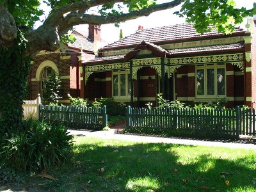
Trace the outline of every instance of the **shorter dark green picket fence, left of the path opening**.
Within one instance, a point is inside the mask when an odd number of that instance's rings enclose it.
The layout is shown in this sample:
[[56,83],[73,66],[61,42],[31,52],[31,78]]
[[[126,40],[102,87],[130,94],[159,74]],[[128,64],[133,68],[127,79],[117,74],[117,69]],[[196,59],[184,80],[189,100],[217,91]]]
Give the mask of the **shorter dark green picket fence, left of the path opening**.
[[40,105],[39,117],[47,122],[67,125],[72,129],[102,129],[108,123],[106,106],[84,108]]

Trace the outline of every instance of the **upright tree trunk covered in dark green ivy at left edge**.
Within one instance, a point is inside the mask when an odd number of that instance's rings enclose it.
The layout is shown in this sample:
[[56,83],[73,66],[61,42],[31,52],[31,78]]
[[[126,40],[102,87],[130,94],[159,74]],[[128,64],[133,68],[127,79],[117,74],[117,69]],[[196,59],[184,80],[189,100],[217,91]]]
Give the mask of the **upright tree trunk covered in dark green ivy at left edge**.
[[29,72],[24,46],[0,47],[0,138],[22,129],[22,99]]

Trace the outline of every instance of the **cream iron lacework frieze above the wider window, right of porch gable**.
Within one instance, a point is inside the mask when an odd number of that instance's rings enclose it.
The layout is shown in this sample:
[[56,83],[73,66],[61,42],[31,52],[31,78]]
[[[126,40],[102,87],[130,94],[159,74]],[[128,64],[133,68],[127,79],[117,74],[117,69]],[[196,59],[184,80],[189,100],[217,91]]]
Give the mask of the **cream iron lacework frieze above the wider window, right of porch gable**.
[[239,54],[223,54],[214,56],[196,56],[190,58],[172,58],[169,60],[171,65],[188,65],[198,63],[216,63],[216,62],[236,62],[243,61],[243,53]]

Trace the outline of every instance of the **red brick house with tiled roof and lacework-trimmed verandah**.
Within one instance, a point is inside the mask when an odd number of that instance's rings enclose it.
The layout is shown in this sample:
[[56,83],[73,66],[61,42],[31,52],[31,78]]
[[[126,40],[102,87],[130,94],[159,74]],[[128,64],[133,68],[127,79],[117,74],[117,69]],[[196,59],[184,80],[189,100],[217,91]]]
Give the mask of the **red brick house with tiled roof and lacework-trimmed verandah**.
[[196,33],[193,24],[143,29],[100,49],[82,63],[80,97],[113,97],[118,102],[157,106],[168,100],[212,102],[228,107],[256,100],[255,20],[230,35]]

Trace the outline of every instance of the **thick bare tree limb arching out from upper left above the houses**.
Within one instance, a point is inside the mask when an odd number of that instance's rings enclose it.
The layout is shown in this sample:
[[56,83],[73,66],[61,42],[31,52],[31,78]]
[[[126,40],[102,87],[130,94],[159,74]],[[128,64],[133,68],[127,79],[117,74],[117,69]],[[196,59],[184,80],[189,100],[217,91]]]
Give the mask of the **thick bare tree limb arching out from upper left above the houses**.
[[[72,26],[78,24],[109,24],[114,22],[123,22],[125,20],[136,19],[142,16],[148,16],[150,13],[157,12],[160,10],[166,10],[168,8],[173,8],[183,0],[174,0],[169,3],[157,4],[154,6],[150,6],[149,8],[145,8],[140,11],[125,13],[124,15],[110,15],[110,16],[99,16],[99,15],[89,15],[81,12],[71,12],[68,13],[67,16],[61,16],[61,19],[56,14],[56,12],[52,12],[50,19],[45,20],[44,24],[40,26],[38,29],[29,31],[26,33],[26,37],[29,42],[29,51],[28,54],[33,54],[34,52],[38,52],[41,50],[47,51],[56,51],[59,47],[60,37],[64,33],[66,33],[67,29],[70,29]],[[88,1],[83,1],[83,3]],[[95,4],[106,4],[106,3],[116,3],[122,2],[120,0],[97,0],[93,1],[93,5]],[[90,4],[92,6],[92,4]],[[88,5],[87,5],[88,6]],[[64,10],[64,9],[63,9]],[[62,10],[62,11],[63,11]],[[67,9],[66,9],[67,10]],[[50,22],[51,21],[51,22]]]

